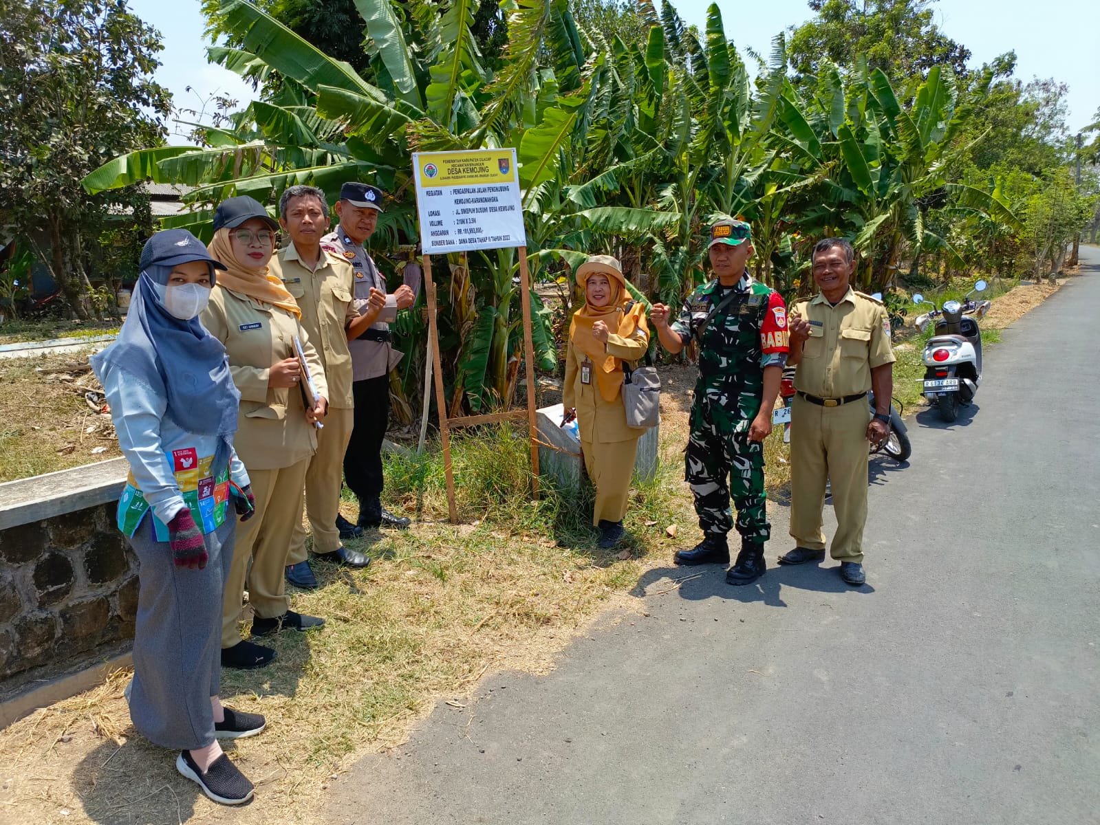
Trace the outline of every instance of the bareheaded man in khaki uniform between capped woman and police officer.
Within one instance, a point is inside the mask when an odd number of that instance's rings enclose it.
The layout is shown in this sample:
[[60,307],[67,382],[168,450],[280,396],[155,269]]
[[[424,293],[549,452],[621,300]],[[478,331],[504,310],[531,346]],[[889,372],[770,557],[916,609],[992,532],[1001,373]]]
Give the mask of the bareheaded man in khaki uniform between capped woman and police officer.
[[[309,209],[302,207],[308,206]],[[306,471],[306,510],[314,531],[314,553],[323,561],[365,568],[369,557],[340,543],[337,514],[343,485],[343,454],[351,437],[353,403],[351,353],[346,329],[359,318],[352,302],[352,270],[341,257],[321,249],[328,228],[324,193],[312,186],[288,187],[279,199],[279,223],[290,243],[272,258],[271,272],[294,296],[301,326],[317,349],[329,388],[324,427],[317,432],[317,452]],[[317,586],[306,552],[306,530],[299,516],[290,539],[286,578],[305,590]]]

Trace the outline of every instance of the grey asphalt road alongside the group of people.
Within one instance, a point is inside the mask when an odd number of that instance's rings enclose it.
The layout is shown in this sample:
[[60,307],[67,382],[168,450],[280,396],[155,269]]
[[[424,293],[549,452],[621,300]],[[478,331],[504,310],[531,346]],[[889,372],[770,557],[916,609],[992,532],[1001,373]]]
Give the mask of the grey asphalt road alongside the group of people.
[[[867,586],[832,561],[748,587],[707,568],[551,674],[441,705],[333,783],[329,821],[1100,823],[1100,251],[1082,257],[987,350],[970,413],[919,415],[909,466],[872,459]],[[773,521],[769,559],[790,546]]]

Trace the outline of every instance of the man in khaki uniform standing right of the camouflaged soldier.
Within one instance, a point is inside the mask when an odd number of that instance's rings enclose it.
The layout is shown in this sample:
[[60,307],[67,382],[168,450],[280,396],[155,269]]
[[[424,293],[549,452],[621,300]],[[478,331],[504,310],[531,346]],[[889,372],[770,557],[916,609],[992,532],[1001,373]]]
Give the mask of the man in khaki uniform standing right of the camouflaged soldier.
[[[791,411],[791,537],[795,548],[780,564],[825,558],[822,508],[825,483],[833,485],[837,529],[832,554],[840,578],[851,585],[864,573],[864,524],[867,520],[868,442],[887,436],[893,391],[894,354],[886,307],[855,292],[851,244],[837,238],[820,241],[812,256],[816,297],[794,305],[791,354],[796,364]],[[875,391],[876,413],[868,413],[867,391]],[[871,419],[868,422],[868,419]]]

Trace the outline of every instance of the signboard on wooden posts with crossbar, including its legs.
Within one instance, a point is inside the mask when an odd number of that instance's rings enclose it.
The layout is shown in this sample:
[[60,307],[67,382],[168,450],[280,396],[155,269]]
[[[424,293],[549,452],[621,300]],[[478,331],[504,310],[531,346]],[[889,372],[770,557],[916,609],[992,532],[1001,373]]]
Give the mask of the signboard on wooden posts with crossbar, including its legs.
[[[539,495],[539,448],[536,433],[535,356],[531,336],[531,279],[527,270],[527,237],[516,169],[516,151],[419,152],[413,155],[420,245],[424,251],[425,294],[428,301],[430,369],[435,375],[439,435],[447,477],[447,508],[459,520],[451,464],[451,429],[527,418],[531,449],[531,493]],[[520,306],[524,321],[524,365],[527,409],[448,418],[443,370],[439,352],[438,299],[431,277],[431,254],[515,248],[519,254]],[[468,273],[469,274],[469,273]]]

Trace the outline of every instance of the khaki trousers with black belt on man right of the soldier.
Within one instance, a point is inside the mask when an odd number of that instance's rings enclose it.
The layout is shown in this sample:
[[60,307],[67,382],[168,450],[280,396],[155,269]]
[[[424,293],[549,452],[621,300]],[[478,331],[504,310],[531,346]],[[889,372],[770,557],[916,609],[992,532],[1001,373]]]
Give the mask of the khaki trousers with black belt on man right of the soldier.
[[825,549],[822,509],[825,482],[833,486],[837,561],[864,561],[867,521],[867,464],[871,413],[866,398],[820,407],[794,396],[791,409],[791,538],[798,547]]

